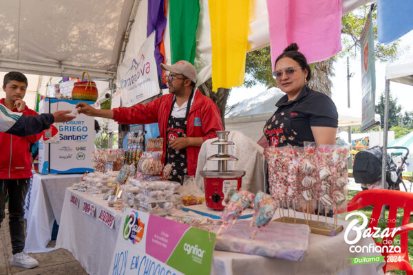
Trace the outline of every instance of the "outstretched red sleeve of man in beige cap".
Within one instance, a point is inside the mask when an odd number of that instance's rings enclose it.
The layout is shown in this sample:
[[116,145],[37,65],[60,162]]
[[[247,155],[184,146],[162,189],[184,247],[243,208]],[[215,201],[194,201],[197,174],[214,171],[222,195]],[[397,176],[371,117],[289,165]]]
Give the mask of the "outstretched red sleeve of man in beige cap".
[[147,124],[158,122],[158,109],[161,98],[156,98],[148,104],[136,104],[132,107],[113,109],[114,120],[122,124]]

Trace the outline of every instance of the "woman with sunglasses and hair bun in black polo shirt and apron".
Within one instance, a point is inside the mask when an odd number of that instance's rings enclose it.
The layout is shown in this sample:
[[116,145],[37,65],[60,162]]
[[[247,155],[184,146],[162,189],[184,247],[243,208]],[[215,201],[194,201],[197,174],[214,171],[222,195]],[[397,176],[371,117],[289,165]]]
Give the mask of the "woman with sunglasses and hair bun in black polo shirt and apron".
[[297,44],[290,44],[278,56],[273,76],[286,95],[277,102],[277,111],[264,126],[268,145],[335,144],[337,109],[328,96],[308,88],[311,69]]

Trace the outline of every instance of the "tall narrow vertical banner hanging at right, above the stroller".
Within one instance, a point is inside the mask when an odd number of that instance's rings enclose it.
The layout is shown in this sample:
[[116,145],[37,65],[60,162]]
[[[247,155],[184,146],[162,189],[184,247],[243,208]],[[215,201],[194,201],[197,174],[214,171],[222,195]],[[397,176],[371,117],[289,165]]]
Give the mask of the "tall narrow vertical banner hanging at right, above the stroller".
[[374,126],[376,96],[376,69],[374,63],[374,39],[372,27],[372,11],[370,10],[366,25],[361,33],[361,131],[367,131]]

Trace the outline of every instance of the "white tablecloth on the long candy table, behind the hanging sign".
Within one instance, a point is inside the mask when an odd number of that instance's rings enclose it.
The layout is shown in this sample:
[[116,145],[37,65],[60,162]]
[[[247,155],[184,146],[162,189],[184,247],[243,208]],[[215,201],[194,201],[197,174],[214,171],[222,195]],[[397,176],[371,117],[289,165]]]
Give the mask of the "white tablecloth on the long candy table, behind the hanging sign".
[[[72,194],[80,199],[78,208],[70,203]],[[88,274],[107,274],[122,222],[122,212],[107,207],[107,201],[103,201],[101,197],[90,197],[85,192],[67,188],[56,241],[56,247],[72,252]],[[96,215],[102,208],[114,213],[114,229],[108,228],[96,216],[90,217],[83,213],[81,206],[85,200],[96,204]],[[188,212],[176,214],[188,215]],[[344,221],[339,223],[346,224]],[[343,231],[337,236],[310,234],[308,254],[301,262],[215,250],[211,274],[383,274],[381,267],[384,263],[352,265],[346,258],[377,254],[350,253],[343,234]],[[368,238],[357,244],[369,245],[372,242]]]

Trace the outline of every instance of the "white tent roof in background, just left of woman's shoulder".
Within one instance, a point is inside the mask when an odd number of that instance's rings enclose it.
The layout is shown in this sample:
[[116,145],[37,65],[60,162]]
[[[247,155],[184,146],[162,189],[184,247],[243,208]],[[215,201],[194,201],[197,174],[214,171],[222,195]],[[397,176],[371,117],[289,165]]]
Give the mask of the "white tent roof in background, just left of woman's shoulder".
[[262,91],[253,98],[248,98],[236,104],[226,107],[226,118],[244,115],[257,115],[260,113],[274,113],[277,107],[275,103],[284,96],[284,92],[278,88],[270,88]]

